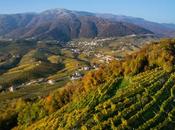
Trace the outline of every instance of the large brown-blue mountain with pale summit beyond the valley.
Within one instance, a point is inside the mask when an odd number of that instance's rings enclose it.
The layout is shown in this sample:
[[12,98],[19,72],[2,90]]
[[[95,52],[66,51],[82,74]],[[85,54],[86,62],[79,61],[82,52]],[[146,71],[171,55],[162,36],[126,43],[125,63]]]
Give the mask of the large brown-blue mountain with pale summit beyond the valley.
[[152,34],[137,25],[111,21],[89,12],[66,9],[47,10],[38,14],[0,15],[0,36],[69,41],[74,38],[113,37]]

